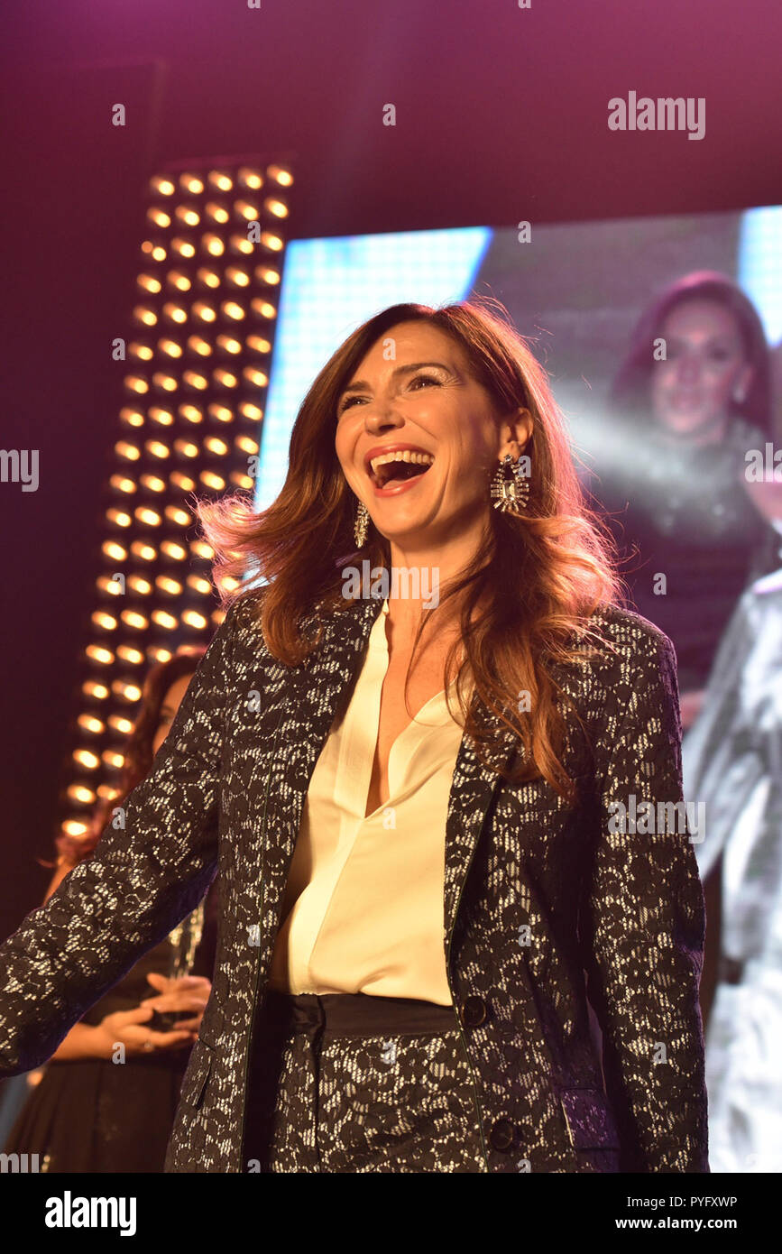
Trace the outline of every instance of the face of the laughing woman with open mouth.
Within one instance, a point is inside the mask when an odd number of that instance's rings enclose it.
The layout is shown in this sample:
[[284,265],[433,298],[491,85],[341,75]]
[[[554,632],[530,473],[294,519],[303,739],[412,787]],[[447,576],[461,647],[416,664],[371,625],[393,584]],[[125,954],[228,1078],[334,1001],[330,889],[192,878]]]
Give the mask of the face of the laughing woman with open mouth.
[[[528,410],[509,423],[498,420],[451,336],[400,322],[375,342],[337,400],[336,451],[382,535],[439,544],[487,517],[499,458],[518,456],[533,428]],[[376,455],[404,449],[417,460],[372,465]]]

